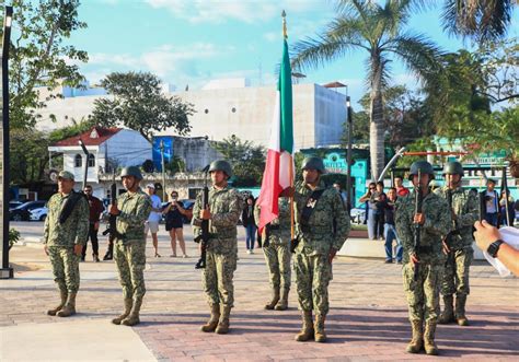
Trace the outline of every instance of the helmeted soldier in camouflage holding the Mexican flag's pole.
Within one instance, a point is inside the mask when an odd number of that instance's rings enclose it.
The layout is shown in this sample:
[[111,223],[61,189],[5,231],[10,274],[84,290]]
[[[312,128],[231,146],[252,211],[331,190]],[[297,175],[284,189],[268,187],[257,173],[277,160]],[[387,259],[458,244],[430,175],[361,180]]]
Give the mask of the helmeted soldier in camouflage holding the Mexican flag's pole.
[[[349,234],[349,215],[341,195],[321,182],[323,161],[307,157],[302,163],[303,182],[296,185],[296,233],[299,244],[293,270],[302,311],[302,329],[297,341],[314,338],[324,342],[324,320],[328,313],[328,283],[332,260]],[[315,323],[312,320],[315,311]]]

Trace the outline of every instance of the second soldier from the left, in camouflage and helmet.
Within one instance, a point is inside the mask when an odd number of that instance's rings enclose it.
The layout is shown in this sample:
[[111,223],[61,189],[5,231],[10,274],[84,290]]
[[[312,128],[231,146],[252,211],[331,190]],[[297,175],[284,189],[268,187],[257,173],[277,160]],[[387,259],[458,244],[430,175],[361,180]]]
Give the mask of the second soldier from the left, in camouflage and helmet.
[[117,197],[117,205],[109,207],[109,213],[117,217],[114,259],[123,287],[125,311],[112,323],[135,326],[140,323],[139,312],[146,293],[145,222],[151,212],[151,201],[139,186],[142,175],[138,167],[123,168],[120,178],[126,192]]

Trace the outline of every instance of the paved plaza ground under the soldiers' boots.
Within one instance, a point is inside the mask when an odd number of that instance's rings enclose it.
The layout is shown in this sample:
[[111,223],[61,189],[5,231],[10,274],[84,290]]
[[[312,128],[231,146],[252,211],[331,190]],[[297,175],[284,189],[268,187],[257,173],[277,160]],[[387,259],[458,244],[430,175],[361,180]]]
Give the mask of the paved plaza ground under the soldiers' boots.
[[[27,241],[42,223],[14,223]],[[15,278],[0,280],[0,361],[377,361],[519,360],[519,283],[500,278],[486,261],[471,268],[469,327],[439,326],[440,355],[405,353],[411,337],[401,266],[383,259],[337,257],[330,288],[328,342],[296,342],[300,328],[292,281],[290,308],[264,311],[269,296],[263,253],[245,253],[239,226],[240,260],[234,277],[235,307],[227,336],[204,334],[209,311],[201,291],[198,253],[185,227],[189,258],[171,258],[169,238],[159,233],[161,258],[148,243],[147,294],[141,324],[114,326],[123,307],[113,261],[82,262],[78,314],[50,317],[57,302],[50,265],[41,245],[11,249]],[[103,237],[102,237],[103,238]],[[380,247],[383,247],[382,242]],[[105,241],[101,243],[101,256]],[[90,252],[89,245],[89,252]]]

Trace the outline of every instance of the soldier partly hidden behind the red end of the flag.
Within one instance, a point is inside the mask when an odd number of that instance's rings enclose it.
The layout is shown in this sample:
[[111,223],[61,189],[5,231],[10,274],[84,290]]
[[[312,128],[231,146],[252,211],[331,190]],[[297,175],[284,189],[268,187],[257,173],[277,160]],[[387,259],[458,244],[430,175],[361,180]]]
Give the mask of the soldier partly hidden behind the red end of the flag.
[[[260,206],[254,210],[256,224],[260,224]],[[290,201],[279,198],[279,218],[264,229],[263,253],[268,267],[273,299],[265,310],[285,311],[288,307],[290,291]]]

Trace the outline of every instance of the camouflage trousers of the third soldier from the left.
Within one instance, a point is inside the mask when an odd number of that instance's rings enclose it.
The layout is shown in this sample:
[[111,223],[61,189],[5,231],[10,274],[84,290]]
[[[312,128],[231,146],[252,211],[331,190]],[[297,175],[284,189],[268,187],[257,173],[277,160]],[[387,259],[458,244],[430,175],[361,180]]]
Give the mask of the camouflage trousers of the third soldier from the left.
[[201,275],[204,292],[209,305],[233,306],[234,285],[232,278],[237,270],[237,254],[215,254],[207,252],[206,268]]

